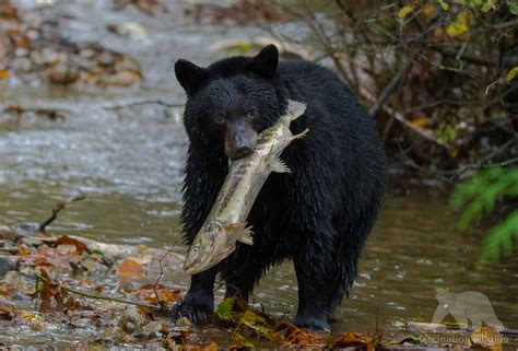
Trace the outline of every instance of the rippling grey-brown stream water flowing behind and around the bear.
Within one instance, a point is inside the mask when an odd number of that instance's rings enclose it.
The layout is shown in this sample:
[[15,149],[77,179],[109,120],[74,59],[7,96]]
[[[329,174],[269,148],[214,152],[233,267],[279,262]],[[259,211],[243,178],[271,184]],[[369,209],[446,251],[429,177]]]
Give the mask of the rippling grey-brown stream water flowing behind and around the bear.
[[[187,144],[181,109],[158,104],[107,107],[146,98],[181,104],[183,92],[172,73],[174,59],[183,56],[208,63],[222,56],[208,49],[211,43],[250,39],[260,32],[198,27],[176,21],[174,13],[156,21],[131,9],[108,11],[102,4],[80,2],[52,11],[59,16],[72,14],[73,20],[64,20],[62,28],[76,40],[95,37],[105,46],[134,55],[141,60],[145,81],[129,90],[23,82],[10,86],[2,104],[58,107],[67,110],[67,117],[51,121],[24,116],[15,120],[0,115],[0,222],[39,222],[56,202],[81,192],[87,199],[67,208],[49,231],[108,243],[168,247],[180,235]],[[105,12],[99,15],[99,11]],[[146,40],[129,43],[101,32],[106,22],[114,21],[138,21],[148,31]],[[339,307],[333,328],[367,331],[378,314],[386,335],[402,336],[407,321],[432,321],[438,305],[435,290],[442,288],[450,293],[485,294],[501,321],[518,329],[518,257],[476,269],[482,234],[475,229],[457,230],[456,217],[440,197],[388,197],[362,257],[360,277],[349,300]],[[184,253],[185,247],[176,246],[175,250]],[[188,285],[180,272],[176,283]],[[262,304],[268,313],[293,315],[296,294],[292,265],[286,262],[269,271],[252,303]]]

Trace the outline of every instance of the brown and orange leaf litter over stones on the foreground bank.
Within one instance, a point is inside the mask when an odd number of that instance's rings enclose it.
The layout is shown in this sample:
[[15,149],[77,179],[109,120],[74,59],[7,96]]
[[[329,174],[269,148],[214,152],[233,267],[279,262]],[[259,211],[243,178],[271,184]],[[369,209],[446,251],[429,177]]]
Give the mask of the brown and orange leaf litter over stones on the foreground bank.
[[[52,217],[56,220],[56,208]],[[173,321],[170,311],[181,300],[181,284],[161,279],[164,272],[180,270],[183,260],[170,249],[56,237],[37,223],[14,230],[0,224],[0,344],[170,350],[450,348],[422,335],[382,340],[377,321],[367,334],[314,334],[286,318],[254,311],[237,297],[221,301],[205,326],[187,318]],[[496,330],[482,327],[455,349],[502,351],[502,342]]]

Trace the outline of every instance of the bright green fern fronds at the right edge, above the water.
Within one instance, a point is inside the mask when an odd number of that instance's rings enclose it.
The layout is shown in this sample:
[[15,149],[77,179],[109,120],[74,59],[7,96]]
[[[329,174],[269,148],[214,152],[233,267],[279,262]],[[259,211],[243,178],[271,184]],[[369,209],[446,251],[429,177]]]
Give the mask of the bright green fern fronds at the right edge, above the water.
[[[463,207],[460,227],[466,229],[473,220],[492,212],[501,197],[518,197],[518,167],[491,167],[458,186],[451,203],[456,209]],[[487,233],[479,264],[497,260],[502,250],[510,253],[514,238],[518,239],[518,209]]]

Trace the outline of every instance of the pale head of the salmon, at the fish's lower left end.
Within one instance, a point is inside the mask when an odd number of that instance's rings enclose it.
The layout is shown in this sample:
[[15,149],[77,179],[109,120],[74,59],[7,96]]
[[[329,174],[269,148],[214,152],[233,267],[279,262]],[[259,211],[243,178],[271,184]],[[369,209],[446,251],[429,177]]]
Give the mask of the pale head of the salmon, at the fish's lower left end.
[[226,235],[225,224],[220,221],[210,221],[203,225],[187,253],[185,272],[197,274],[226,258],[233,249]]

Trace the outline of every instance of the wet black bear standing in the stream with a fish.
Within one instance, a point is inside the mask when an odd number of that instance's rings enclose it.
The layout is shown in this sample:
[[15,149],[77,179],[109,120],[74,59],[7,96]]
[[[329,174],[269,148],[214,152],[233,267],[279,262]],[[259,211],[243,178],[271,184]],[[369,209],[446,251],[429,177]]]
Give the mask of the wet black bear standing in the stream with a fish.
[[275,124],[287,100],[307,104],[293,133],[309,128],[281,156],[292,173],[270,175],[254,203],[247,220],[254,245],[238,244],[227,259],[192,276],[175,316],[205,320],[217,273],[227,296],[247,300],[270,266],[291,258],[298,281],[294,321],[327,330],[356,277],[385,191],[385,154],[372,118],[334,73],[304,60],[279,62],[273,45],[208,68],[179,59],[175,72],[187,93],[181,219],[189,245],[222,187],[228,159],[251,153],[257,134]]

